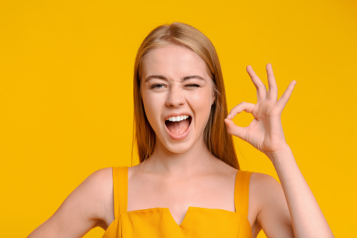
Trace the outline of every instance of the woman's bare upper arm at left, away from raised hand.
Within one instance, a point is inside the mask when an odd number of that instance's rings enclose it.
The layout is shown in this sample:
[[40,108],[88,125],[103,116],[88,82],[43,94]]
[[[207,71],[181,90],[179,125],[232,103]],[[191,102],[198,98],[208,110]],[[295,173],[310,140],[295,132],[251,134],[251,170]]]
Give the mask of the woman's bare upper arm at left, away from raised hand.
[[106,221],[114,219],[113,206],[112,168],[103,168],[76,187],[29,237],[82,237],[93,227],[106,228]]

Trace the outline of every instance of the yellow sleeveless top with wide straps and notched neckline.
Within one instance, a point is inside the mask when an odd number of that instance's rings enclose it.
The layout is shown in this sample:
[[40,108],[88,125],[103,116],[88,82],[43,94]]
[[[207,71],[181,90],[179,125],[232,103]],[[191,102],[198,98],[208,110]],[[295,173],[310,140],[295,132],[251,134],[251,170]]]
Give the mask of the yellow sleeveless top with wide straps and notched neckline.
[[180,225],[168,208],[126,211],[128,167],[113,168],[114,214],[103,238],[114,237],[252,237],[248,220],[249,181],[252,172],[238,171],[234,187],[236,211],[190,206]]

